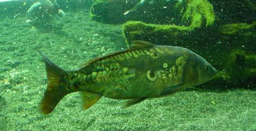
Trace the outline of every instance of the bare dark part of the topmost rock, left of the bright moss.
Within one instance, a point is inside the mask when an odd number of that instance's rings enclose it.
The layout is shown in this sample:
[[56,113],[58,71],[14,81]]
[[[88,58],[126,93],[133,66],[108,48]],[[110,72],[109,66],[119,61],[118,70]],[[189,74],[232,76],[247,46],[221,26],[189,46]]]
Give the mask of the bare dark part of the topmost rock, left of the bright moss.
[[[148,1],[145,1],[146,4],[125,15],[127,11],[133,9],[138,3],[140,3],[139,0],[97,0],[91,8],[91,19],[111,24],[120,24],[129,20],[140,20],[152,23],[170,23],[170,21],[175,21],[173,15],[180,16],[178,12],[174,13],[172,3],[169,2],[169,4],[166,4],[166,1],[154,1],[154,3],[151,4]],[[169,13],[169,11],[172,11],[173,13]],[[166,14],[169,14],[170,17],[166,17]]]

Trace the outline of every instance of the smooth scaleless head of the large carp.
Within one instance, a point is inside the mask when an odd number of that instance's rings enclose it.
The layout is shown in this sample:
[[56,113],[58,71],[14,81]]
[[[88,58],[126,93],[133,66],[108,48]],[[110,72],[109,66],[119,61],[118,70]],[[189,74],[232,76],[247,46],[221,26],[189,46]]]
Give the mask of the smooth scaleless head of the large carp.
[[187,84],[191,86],[203,84],[214,78],[217,72],[217,69],[204,58],[196,53],[190,53],[185,73]]

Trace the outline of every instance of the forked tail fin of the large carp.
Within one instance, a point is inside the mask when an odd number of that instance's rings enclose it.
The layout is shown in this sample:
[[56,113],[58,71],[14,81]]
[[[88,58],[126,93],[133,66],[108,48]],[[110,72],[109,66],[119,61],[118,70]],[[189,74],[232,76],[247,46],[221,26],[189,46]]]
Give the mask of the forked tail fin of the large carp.
[[39,104],[39,110],[42,114],[49,114],[57,106],[57,103],[68,94],[63,87],[61,79],[67,72],[57,65],[39,51],[39,54],[44,58],[47,72],[47,89],[45,90],[44,97],[42,97]]

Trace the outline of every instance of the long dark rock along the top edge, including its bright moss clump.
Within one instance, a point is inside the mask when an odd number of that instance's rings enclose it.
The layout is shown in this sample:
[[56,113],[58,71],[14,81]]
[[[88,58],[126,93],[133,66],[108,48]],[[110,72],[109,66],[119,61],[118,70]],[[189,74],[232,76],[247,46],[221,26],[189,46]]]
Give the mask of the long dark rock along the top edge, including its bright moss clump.
[[138,3],[141,1],[95,0],[90,15],[93,20],[103,23],[120,24],[136,20],[154,24],[186,25],[192,29],[230,23],[252,23],[256,16],[256,4],[251,0],[145,0],[145,4],[140,4],[135,11],[124,15]]

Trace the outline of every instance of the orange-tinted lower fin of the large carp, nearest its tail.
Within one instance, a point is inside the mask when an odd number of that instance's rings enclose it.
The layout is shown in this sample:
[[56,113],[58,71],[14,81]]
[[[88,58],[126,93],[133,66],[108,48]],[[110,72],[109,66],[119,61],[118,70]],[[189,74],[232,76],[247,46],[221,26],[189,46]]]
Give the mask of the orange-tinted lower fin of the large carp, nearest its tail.
[[95,102],[97,102],[100,99],[101,96],[102,95],[95,94],[92,92],[86,92],[86,91],[81,92],[82,110],[89,109],[91,106],[93,106]]

